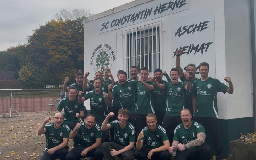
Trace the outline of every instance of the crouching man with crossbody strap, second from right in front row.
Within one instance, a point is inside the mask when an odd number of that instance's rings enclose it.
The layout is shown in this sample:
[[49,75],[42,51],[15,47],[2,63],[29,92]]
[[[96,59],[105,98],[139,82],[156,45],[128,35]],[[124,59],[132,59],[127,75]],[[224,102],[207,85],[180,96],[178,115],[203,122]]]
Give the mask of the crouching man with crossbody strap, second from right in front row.
[[170,142],[165,129],[157,124],[156,115],[147,114],[146,122],[147,127],[144,127],[138,136],[134,158],[138,160],[171,159],[172,156],[168,152]]

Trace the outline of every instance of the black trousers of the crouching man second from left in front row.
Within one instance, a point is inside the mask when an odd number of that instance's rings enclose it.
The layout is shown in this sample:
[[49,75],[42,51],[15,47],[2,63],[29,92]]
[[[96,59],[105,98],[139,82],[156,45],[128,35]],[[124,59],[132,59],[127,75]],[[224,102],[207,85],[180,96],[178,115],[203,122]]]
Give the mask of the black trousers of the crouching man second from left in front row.
[[80,158],[84,158],[84,157],[95,157],[95,160],[102,160],[103,153],[102,153],[101,146],[88,151],[86,156],[81,156],[81,153],[82,153],[82,151],[84,151],[85,148],[87,148],[87,147],[80,146],[80,145],[75,146],[70,152],[68,152],[66,159],[67,160],[79,160]]

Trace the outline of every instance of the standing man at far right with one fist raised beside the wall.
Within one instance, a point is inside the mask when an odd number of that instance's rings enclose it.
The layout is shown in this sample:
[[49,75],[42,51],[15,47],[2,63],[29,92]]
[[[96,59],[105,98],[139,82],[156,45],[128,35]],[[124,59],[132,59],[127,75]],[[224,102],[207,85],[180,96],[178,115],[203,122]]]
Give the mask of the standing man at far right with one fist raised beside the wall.
[[219,160],[222,159],[222,147],[219,136],[217,93],[232,94],[234,87],[230,77],[224,78],[229,83],[229,87],[218,79],[209,77],[209,64],[206,62],[199,64],[199,73],[201,78],[192,85],[193,119],[201,123],[206,130],[209,129],[214,141],[216,160]]

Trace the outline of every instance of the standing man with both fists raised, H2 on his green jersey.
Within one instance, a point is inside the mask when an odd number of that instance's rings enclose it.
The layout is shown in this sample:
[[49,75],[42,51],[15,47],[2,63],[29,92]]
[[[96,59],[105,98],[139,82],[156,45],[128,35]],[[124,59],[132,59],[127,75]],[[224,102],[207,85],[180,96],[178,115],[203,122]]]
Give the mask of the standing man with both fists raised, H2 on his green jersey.
[[175,127],[181,123],[180,111],[184,109],[183,97],[184,92],[190,90],[189,73],[184,73],[187,83],[179,82],[179,74],[177,68],[172,68],[170,77],[172,82],[160,84],[156,81],[155,75],[152,76],[154,85],[162,90],[166,90],[167,108],[163,119],[162,126],[166,129],[170,142],[173,139],[173,131]]

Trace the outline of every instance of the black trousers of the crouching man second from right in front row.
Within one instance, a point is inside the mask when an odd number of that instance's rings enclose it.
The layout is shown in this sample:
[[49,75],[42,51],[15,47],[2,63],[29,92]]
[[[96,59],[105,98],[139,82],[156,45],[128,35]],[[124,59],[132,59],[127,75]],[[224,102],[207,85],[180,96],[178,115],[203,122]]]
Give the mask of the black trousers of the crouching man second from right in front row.
[[[151,151],[153,148],[149,148],[147,146],[143,146],[141,150],[136,150],[134,153],[134,158],[137,160],[148,160],[148,152]],[[169,151],[161,151],[157,153],[153,153],[151,159],[153,160],[170,160],[172,155]]]

